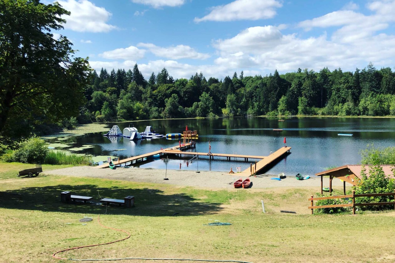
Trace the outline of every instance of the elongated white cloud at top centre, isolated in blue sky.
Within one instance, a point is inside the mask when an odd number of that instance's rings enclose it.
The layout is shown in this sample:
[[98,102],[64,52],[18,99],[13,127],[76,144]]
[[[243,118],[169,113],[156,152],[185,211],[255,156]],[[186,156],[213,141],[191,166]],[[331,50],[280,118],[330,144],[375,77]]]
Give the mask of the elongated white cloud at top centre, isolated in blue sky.
[[211,7],[211,12],[202,17],[201,21],[234,21],[269,19],[276,15],[276,8],[282,7],[277,0],[236,0],[227,5]]

